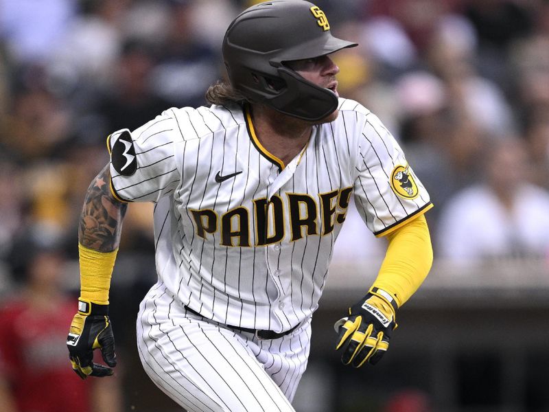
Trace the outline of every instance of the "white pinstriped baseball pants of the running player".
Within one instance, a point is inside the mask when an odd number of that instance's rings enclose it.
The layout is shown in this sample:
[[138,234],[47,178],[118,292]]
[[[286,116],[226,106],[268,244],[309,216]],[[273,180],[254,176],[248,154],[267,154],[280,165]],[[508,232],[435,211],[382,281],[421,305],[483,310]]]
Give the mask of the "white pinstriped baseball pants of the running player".
[[159,282],[137,316],[141,363],[189,412],[292,412],[309,356],[311,323],[261,340],[187,312]]

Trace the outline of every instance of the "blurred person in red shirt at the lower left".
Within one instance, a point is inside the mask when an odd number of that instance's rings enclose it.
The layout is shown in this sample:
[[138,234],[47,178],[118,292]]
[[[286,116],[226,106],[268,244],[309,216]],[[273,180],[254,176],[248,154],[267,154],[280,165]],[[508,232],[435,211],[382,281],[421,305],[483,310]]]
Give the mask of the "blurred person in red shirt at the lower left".
[[[64,299],[60,249],[30,247],[24,285],[0,307],[0,410],[117,412],[117,382],[84,382],[67,369],[67,325],[75,310]],[[93,402],[93,404],[91,403]]]

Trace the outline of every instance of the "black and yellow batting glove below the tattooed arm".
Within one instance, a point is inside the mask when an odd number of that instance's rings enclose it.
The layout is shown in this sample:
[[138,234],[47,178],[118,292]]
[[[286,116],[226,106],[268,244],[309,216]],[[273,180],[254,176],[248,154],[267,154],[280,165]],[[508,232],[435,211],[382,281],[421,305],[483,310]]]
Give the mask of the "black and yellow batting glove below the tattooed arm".
[[[115,336],[108,318],[108,305],[96,305],[78,301],[78,313],[74,315],[67,336],[67,347],[73,370],[82,379],[88,376],[110,376],[116,366]],[[100,349],[106,367],[93,363],[93,350]]]

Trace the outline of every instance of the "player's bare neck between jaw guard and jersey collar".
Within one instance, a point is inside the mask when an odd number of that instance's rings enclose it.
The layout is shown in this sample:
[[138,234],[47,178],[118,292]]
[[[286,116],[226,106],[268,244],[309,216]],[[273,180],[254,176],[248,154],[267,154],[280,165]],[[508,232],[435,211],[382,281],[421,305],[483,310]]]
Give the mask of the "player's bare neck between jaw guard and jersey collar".
[[272,155],[288,164],[307,145],[313,124],[274,111],[264,105],[252,108],[257,139]]

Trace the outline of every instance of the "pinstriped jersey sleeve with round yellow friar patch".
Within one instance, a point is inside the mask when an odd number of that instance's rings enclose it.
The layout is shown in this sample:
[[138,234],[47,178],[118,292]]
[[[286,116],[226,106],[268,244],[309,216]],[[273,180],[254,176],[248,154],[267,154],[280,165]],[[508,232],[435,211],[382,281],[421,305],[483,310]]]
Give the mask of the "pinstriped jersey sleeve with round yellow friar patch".
[[372,113],[358,137],[355,173],[355,205],[377,237],[432,207],[399,144]]

